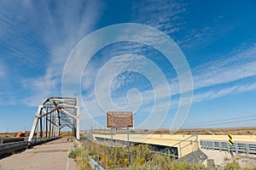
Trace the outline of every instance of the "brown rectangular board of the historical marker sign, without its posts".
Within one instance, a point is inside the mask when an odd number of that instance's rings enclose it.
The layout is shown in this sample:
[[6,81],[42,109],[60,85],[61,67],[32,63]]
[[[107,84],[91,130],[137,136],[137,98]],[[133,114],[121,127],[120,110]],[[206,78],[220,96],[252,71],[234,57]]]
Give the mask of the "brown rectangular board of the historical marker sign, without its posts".
[[133,127],[131,111],[108,111],[107,127]]

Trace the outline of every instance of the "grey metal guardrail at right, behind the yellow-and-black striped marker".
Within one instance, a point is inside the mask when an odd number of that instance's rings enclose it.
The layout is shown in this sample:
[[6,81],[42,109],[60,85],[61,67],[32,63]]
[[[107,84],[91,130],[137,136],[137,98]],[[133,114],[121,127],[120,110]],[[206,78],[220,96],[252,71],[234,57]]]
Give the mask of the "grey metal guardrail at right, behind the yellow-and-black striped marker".
[[256,143],[245,143],[245,142],[234,142],[232,146],[226,141],[218,141],[218,140],[200,140],[201,148],[206,150],[225,150],[230,152],[233,150],[236,154],[246,153],[248,154],[256,154]]

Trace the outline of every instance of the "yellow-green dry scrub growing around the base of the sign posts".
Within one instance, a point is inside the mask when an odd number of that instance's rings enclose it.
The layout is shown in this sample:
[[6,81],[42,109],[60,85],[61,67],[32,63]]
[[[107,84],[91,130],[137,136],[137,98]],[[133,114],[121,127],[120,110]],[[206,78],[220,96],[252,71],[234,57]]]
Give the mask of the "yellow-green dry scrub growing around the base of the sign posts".
[[[81,149],[79,149],[81,150]],[[192,164],[188,162],[177,162],[171,156],[163,156],[153,153],[151,146],[148,144],[131,145],[131,164],[128,165],[128,151],[126,147],[111,147],[96,144],[90,141],[84,141],[84,153],[94,156],[100,162],[102,167],[106,169],[204,169],[201,164]],[[79,155],[80,151],[74,151],[73,154]],[[88,164],[88,162],[84,161]],[[78,161],[78,164],[83,164]],[[79,165],[81,167],[85,165]]]

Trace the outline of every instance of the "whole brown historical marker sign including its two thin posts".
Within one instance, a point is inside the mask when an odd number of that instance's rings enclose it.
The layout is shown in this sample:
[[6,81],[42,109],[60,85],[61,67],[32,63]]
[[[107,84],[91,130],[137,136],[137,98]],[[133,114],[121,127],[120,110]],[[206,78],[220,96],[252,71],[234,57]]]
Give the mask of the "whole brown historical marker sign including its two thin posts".
[[131,111],[108,111],[107,127],[111,128],[111,147],[113,150],[113,128],[127,127],[127,148],[128,148],[128,166],[131,163],[129,127],[133,127],[133,117]]

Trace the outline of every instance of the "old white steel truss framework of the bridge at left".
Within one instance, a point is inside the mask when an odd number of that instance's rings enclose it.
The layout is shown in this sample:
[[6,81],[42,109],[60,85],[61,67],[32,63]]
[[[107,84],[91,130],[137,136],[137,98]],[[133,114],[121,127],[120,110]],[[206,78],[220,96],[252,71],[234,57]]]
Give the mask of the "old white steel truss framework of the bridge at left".
[[63,127],[70,127],[73,136],[79,139],[79,100],[76,98],[48,98],[38,111],[28,141],[37,143],[60,136]]

